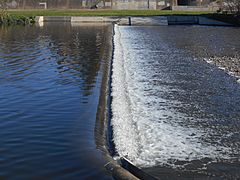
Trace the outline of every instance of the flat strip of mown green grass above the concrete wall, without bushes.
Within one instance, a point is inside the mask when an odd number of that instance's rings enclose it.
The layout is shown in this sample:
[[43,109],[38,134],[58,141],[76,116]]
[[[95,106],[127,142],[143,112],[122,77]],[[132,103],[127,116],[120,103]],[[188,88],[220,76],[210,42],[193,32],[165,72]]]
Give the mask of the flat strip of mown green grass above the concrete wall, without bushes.
[[206,11],[170,10],[8,10],[15,16],[163,16],[163,15],[203,15]]

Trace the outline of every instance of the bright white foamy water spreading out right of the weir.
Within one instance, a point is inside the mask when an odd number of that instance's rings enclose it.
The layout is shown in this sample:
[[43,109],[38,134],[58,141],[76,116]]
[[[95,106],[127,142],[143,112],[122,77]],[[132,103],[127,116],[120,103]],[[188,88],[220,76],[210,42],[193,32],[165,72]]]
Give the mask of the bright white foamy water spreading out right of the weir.
[[[158,52],[142,49],[142,56],[135,54],[140,51],[126,44],[131,39],[123,28],[115,26],[112,75],[113,138],[119,156],[127,156],[141,167],[220,156],[225,147],[202,143],[203,131],[174,121],[183,115],[164,105],[169,102],[159,96],[159,91],[167,89],[155,85],[145,64]],[[171,103],[177,106],[179,102]]]

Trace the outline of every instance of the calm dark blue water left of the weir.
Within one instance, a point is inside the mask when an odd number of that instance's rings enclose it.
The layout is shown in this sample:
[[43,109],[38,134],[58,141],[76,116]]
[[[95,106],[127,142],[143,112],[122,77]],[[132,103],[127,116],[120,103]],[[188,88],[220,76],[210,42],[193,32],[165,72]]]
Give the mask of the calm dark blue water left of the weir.
[[94,143],[108,26],[0,29],[0,179],[109,178]]

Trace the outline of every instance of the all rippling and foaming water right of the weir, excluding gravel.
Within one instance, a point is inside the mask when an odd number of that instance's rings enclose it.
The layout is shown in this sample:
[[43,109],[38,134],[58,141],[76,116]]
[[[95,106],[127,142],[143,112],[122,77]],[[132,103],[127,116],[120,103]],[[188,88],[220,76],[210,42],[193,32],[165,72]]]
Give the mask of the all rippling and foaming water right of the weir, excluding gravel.
[[235,163],[222,168],[239,176],[240,84],[205,62],[215,54],[240,55],[239,34],[237,28],[115,26],[112,126],[119,156],[143,168]]

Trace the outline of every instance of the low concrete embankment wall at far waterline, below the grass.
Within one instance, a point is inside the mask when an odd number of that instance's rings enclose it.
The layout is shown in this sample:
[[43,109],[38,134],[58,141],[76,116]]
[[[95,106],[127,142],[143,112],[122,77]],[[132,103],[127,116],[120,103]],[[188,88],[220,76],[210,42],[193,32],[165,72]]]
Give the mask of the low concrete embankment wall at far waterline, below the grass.
[[231,24],[213,20],[204,16],[149,16],[149,17],[68,17],[38,16],[36,22],[70,22],[75,23],[116,23],[132,26],[167,26],[167,25],[206,25],[231,26]]

